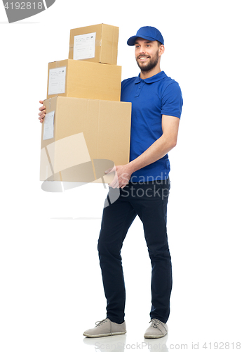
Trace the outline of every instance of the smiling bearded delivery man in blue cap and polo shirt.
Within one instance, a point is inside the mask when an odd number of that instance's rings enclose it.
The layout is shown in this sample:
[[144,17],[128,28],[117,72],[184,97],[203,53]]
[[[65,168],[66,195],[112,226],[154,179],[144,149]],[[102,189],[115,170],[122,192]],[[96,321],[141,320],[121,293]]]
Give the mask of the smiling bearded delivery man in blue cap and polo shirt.
[[[161,55],[165,50],[161,32],[154,27],[141,27],[127,44],[135,46],[140,74],[123,80],[121,84],[121,101],[132,103],[130,162],[106,171],[115,172],[107,200],[112,199],[114,189],[120,189],[119,198],[114,203],[109,202],[103,210],[98,239],[107,317],[83,335],[105,337],[126,333],[126,290],[121,248],[128,228],[138,215],[144,226],[152,263],[151,324],[144,337],[155,339],[168,333],[166,322],[170,314],[172,289],[166,232],[170,190],[168,152],[177,144],[183,101],[179,84],[160,68]],[[40,103],[43,104],[43,101]],[[39,120],[43,122],[45,107],[41,106],[39,110]]]

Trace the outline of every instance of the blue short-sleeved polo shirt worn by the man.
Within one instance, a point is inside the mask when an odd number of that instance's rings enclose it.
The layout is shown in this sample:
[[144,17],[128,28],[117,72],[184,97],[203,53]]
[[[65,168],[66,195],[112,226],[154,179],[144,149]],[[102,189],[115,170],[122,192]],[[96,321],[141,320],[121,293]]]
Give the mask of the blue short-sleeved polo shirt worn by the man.
[[[180,118],[182,92],[175,80],[163,71],[142,80],[138,77],[123,80],[121,101],[132,103],[130,131],[130,161],[140,156],[159,139],[162,132],[162,115]],[[158,161],[133,172],[131,182],[166,180],[170,172],[168,154]]]

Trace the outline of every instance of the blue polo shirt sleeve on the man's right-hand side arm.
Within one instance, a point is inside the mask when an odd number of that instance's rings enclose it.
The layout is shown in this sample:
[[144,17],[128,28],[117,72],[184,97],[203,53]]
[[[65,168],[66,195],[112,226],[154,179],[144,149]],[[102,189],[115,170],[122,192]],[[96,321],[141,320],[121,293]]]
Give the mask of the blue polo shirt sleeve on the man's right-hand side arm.
[[161,115],[181,117],[182,113],[182,91],[177,82],[172,82],[166,87],[161,96]]

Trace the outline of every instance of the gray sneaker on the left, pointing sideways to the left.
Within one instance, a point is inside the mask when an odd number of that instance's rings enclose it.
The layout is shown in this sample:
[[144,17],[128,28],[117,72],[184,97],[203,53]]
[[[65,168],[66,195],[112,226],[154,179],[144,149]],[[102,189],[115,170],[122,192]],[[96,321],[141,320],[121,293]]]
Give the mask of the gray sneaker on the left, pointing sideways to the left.
[[105,337],[126,334],[126,322],[116,324],[116,322],[112,322],[109,318],[106,318],[95,324],[96,326],[93,329],[86,330],[83,332],[83,335],[86,337]]

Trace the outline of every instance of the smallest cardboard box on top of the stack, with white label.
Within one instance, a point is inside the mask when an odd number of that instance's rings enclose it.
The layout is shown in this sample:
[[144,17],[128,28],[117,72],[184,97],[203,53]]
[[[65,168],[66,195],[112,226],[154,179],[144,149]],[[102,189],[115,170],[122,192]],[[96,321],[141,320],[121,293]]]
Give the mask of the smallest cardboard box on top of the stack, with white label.
[[69,58],[116,65],[118,42],[119,27],[102,23],[75,28],[70,32]]

